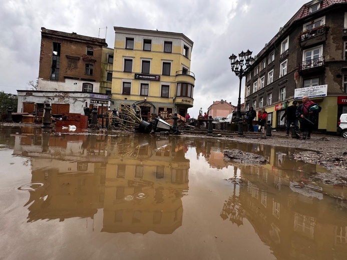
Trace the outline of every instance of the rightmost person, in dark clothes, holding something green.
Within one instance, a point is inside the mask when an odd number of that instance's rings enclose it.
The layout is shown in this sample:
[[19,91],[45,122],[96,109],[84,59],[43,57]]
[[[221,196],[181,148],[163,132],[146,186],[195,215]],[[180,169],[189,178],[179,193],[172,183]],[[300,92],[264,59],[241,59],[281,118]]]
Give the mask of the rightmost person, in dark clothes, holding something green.
[[308,96],[302,97],[302,103],[296,108],[296,116],[300,121],[302,139],[310,139],[314,124],[318,119],[321,106],[309,100]]

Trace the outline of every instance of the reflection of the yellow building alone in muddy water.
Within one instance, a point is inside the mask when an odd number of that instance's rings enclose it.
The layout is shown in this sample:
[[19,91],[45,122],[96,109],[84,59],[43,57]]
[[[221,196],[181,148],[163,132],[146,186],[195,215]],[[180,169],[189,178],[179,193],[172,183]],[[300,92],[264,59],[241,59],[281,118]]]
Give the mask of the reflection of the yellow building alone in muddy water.
[[119,156],[108,159],[103,231],[172,233],[182,224],[181,197],[188,190],[184,142],[134,138],[117,146],[113,152]]

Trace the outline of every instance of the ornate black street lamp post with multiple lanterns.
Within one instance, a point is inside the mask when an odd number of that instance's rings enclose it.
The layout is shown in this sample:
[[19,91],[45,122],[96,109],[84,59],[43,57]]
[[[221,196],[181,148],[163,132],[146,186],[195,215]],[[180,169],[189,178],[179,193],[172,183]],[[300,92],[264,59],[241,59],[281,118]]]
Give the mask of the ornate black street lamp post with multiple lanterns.
[[254,58],[251,57],[252,51],[247,49],[246,52],[241,51],[237,56],[233,53],[230,55],[229,60],[231,64],[231,70],[236,74],[240,79],[240,85],[238,90],[238,101],[237,101],[237,114],[236,121],[238,122],[238,134],[243,134],[242,129],[242,118],[241,118],[241,83],[242,77],[244,77],[254,62]]

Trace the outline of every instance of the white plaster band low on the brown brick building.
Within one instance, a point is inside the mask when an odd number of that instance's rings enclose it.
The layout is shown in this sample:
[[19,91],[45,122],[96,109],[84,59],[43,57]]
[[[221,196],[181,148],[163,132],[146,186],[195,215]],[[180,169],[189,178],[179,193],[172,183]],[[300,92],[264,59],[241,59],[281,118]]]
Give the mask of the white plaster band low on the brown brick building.
[[78,79],[66,78],[64,81],[55,81],[39,78],[38,90],[47,91],[82,91],[83,83],[93,85],[93,92],[100,91],[100,82],[83,81]]

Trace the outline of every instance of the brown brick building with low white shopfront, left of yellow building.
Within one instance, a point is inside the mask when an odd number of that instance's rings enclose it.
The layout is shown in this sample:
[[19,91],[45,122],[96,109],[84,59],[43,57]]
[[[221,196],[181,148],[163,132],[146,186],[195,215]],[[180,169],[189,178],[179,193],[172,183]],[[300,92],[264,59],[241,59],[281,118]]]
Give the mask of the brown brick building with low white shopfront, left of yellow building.
[[53,114],[83,113],[84,107],[93,105],[108,107],[107,85],[100,84],[106,40],[45,27],[41,30],[38,90],[18,90],[18,111],[42,111],[46,102],[52,104]]

